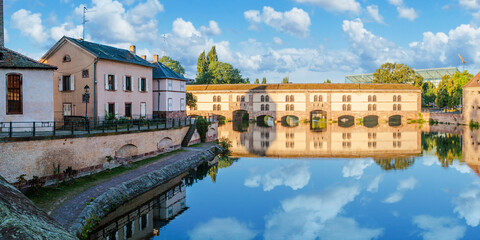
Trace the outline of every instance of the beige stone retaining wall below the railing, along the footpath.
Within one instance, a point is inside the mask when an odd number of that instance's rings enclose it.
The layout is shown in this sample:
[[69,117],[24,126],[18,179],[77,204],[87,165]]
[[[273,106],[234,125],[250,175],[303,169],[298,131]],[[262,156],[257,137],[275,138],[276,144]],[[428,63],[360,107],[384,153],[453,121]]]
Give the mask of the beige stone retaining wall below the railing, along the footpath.
[[[218,125],[212,124],[208,141],[216,139]],[[72,167],[84,176],[124,163],[135,162],[179,149],[188,127],[161,131],[128,133],[53,140],[0,142],[0,175],[14,183],[22,174],[26,179],[41,177],[46,184],[54,179],[54,165],[60,171]],[[190,144],[200,142],[195,133]],[[111,157],[111,158],[110,158]]]

